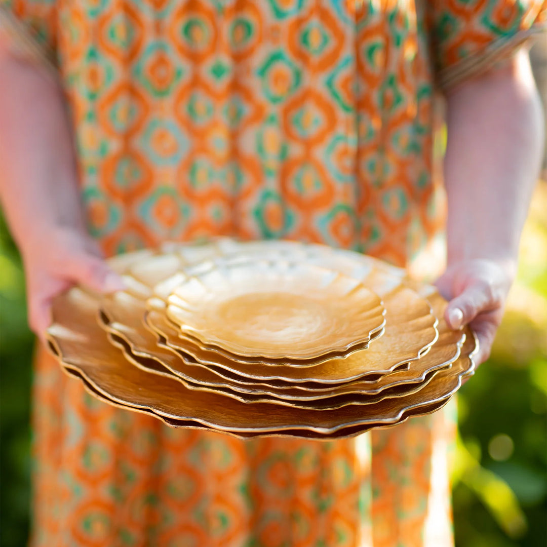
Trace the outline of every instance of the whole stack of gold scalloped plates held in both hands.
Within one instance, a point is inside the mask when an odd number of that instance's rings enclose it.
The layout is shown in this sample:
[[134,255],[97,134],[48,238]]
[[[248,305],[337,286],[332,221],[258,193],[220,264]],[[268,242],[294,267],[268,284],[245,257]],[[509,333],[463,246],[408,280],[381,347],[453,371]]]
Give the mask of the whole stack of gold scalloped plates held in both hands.
[[434,287],[288,241],[164,245],[110,265],[127,289],[54,301],[50,349],[110,404],[237,437],[350,437],[438,410],[473,374]]

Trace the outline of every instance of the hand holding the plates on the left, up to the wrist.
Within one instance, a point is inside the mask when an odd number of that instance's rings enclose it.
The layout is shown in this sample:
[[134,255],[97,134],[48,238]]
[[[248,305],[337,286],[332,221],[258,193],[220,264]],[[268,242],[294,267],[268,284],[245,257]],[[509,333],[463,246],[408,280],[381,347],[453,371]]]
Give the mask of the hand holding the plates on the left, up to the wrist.
[[85,232],[55,228],[21,249],[27,284],[28,324],[40,339],[51,323],[51,301],[74,283],[101,293],[124,288],[97,243]]

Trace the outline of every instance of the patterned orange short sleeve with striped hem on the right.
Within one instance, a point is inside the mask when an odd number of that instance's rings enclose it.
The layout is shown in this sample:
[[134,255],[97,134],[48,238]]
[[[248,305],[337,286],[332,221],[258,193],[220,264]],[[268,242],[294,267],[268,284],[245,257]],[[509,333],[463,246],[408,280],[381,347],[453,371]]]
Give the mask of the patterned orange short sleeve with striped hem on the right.
[[433,60],[448,89],[546,30],[547,0],[426,0]]

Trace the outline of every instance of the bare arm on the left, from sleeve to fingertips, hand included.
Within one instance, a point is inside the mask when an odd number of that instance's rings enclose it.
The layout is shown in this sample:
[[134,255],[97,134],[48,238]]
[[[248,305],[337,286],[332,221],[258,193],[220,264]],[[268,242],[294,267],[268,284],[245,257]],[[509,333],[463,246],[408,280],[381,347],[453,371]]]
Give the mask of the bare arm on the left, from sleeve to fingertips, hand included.
[[43,335],[57,293],[74,282],[115,290],[121,281],[85,231],[59,86],[1,41],[0,82],[0,200],[25,265],[29,323]]

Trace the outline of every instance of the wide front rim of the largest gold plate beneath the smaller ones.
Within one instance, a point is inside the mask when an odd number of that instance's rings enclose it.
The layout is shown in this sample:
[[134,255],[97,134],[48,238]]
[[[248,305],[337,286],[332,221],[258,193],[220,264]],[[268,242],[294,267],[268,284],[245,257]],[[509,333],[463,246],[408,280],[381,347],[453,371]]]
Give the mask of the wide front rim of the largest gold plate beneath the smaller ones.
[[443,403],[472,374],[476,339],[468,331],[462,355],[441,370],[423,389],[404,398],[384,399],[374,405],[350,405],[328,412],[272,404],[246,404],[217,393],[185,389],[176,380],[148,374],[133,366],[108,341],[98,326],[96,295],[72,288],[53,302],[54,323],[48,329],[51,349],[63,366],[82,375],[97,391],[121,404],[130,403],[174,420],[195,421],[230,432],[310,430],[331,434],[364,424],[394,424],[406,412]]

